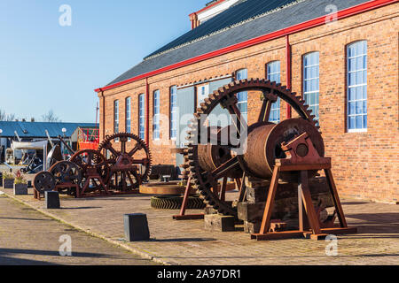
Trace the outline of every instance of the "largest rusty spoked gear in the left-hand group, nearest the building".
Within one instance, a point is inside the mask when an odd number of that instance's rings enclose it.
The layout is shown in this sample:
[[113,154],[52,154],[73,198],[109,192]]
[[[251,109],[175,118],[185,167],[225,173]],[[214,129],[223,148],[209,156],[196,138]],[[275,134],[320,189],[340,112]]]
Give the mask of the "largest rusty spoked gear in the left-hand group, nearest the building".
[[[133,142],[133,146],[128,151],[129,142]],[[107,135],[106,139],[98,145],[98,151],[102,152],[103,150],[110,166],[110,174],[106,180],[109,188],[118,191],[131,191],[137,189],[143,181],[148,179],[153,157],[145,142],[136,134]],[[135,155],[141,155],[141,157],[135,158]],[[139,166],[141,168],[138,168]]]

